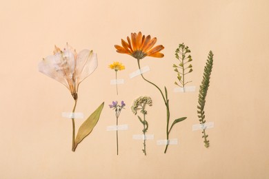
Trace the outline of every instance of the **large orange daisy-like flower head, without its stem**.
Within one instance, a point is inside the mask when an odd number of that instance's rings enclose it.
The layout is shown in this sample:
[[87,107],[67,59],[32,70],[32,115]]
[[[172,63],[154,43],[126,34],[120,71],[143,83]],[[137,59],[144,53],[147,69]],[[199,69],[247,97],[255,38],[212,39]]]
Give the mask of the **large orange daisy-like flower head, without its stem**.
[[127,41],[121,39],[121,45],[114,45],[117,52],[121,54],[130,54],[137,60],[143,59],[145,56],[152,56],[162,58],[164,55],[160,53],[164,49],[163,45],[157,45],[153,48],[157,42],[157,38],[151,39],[150,35],[142,36],[142,33],[131,33],[131,39],[127,36]]

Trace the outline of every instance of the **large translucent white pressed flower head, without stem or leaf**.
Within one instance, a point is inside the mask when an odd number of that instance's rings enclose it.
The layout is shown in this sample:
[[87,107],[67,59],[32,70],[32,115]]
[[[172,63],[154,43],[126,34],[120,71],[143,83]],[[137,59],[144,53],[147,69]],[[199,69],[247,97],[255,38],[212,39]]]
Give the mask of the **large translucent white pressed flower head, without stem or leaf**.
[[77,54],[70,45],[61,50],[55,46],[53,55],[39,63],[39,72],[65,85],[74,100],[77,99],[79,83],[97,68],[97,54],[92,50],[81,50]]

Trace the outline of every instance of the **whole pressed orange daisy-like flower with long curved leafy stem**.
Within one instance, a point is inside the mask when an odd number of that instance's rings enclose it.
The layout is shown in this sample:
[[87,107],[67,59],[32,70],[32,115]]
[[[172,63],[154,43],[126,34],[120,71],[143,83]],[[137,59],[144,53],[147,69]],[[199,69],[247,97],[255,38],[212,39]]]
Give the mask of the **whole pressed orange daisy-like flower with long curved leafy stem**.
[[[138,34],[131,33],[131,39],[129,38],[129,36],[127,36],[127,41],[128,42],[121,39],[122,47],[120,45],[114,45],[114,47],[117,49],[117,52],[119,52],[121,54],[129,54],[130,56],[137,59],[137,64],[138,64],[139,70],[141,70],[140,61],[144,57],[152,56],[152,57],[162,58],[164,56],[160,52],[161,50],[164,49],[163,45],[157,45],[153,48],[153,46],[157,42],[156,37],[151,39],[150,35],[148,35],[148,36],[143,35],[142,36],[141,32],[139,32]],[[163,98],[163,102],[166,105],[166,140],[167,140],[167,144],[166,144],[166,149],[164,151],[164,153],[166,153],[168,145],[169,145],[169,134],[170,134],[172,127],[176,123],[179,123],[180,121],[185,120],[186,117],[175,119],[174,122],[172,123],[172,125],[169,127],[170,109],[169,109],[168,92],[167,92],[166,87],[164,87],[165,94],[163,94],[163,91],[161,91],[161,89],[157,85],[155,85],[155,83],[148,81],[148,79],[146,79],[143,76],[143,74],[141,74],[141,77],[143,78],[143,80],[145,80],[146,82],[155,86],[159,90],[159,92],[161,93],[161,97]]]

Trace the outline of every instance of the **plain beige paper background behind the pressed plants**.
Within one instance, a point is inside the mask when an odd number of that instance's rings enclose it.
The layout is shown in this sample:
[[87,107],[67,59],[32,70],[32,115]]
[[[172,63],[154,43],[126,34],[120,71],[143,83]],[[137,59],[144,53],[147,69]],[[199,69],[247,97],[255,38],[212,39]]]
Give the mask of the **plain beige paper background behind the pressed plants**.
[[[0,178],[268,178],[269,177],[269,3],[268,1],[90,1],[10,0],[0,3],[1,49],[1,149]],[[147,57],[146,78],[162,89],[166,85],[171,118],[187,116],[170,134],[179,145],[168,148],[164,139],[166,111],[157,89],[140,76],[136,60],[115,52],[131,32],[157,36],[165,46],[163,59]],[[71,121],[61,112],[73,105],[66,87],[37,70],[54,45],[66,42],[77,50],[92,49],[99,57],[97,70],[81,83],[77,112],[88,116],[100,103],[105,107],[97,126],[71,151]],[[186,43],[192,50],[194,72],[190,85],[199,87],[209,50],[215,54],[206,120],[210,148],[203,147],[198,123],[198,90],[175,93],[175,49]],[[124,85],[110,85],[113,61],[126,70],[119,72]],[[141,151],[142,125],[130,111],[135,98],[152,97],[148,108],[148,156]],[[125,101],[119,131],[119,156],[113,131],[111,101]],[[172,120],[171,119],[171,120]],[[83,120],[77,120],[77,127]]]

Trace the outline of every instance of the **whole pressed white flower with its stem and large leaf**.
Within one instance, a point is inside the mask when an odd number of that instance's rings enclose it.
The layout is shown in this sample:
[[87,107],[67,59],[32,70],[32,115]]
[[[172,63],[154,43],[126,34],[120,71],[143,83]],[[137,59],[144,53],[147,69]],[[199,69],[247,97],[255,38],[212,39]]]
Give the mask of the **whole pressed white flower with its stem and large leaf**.
[[[66,44],[66,48],[63,50],[55,46],[53,55],[47,56],[39,63],[39,72],[54,78],[69,89],[74,98],[72,114],[74,114],[77,106],[79,84],[90,76],[96,68],[97,54],[92,52],[92,50],[82,50],[77,53],[68,44]],[[97,107],[79,127],[76,138],[74,116],[72,116],[72,151],[76,150],[77,145],[90,134],[97,124],[103,105],[104,103]]]

